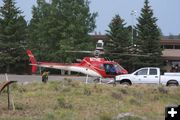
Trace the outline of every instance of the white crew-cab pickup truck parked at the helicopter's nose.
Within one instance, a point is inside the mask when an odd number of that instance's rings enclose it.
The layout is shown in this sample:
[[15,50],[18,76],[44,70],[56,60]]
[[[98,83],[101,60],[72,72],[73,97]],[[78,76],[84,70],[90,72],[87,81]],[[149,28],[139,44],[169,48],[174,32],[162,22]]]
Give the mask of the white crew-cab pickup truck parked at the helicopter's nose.
[[132,74],[118,75],[115,77],[116,82],[120,84],[163,84],[166,86],[180,85],[180,74],[160,75],[160,69],[157,67],[141,68]]

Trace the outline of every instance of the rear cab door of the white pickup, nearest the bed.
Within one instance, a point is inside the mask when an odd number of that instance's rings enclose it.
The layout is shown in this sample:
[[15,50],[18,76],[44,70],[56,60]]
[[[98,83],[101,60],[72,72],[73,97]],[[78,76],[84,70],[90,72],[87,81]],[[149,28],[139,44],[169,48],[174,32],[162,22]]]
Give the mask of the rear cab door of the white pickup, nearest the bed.
[[160,78],[159,78],[157,69],[156,68],[150,68],[149,69],[149,75],[147,76],[147,78],[148,78],[147,83],[158,84]]

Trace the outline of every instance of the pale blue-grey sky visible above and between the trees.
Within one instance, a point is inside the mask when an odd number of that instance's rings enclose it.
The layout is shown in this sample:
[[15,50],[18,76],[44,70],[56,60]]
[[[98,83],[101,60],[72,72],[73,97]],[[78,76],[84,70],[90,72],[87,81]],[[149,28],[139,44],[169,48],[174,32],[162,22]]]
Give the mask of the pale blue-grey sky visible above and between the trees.
[[[17,6],[23,11],[25,19],[29,21],[32,17],[32,6],[36,0],[15,0]],[[164,35],[180,34],[180,0],[149,0],[154,16],[157,17],[157,25]],[[105,34],[112,18],[119,14],[127,25],[137,23],[137,18],[143,8],[144,0],[90,0],[90,11],[98,12],[95,31]],[[0,0],[2,6],[2,0]],[[131,11],[135,10],[136,15],[132,16]]]

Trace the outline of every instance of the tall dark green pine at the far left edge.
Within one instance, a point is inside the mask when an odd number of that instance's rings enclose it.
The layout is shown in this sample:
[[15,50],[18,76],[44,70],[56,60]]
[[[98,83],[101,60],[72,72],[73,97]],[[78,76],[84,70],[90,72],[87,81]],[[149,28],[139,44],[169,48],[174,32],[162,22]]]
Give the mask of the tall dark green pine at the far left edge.
[[[0,7],[0,69],[10,72],[24,61],[26,44],[26,21],[14,0],[3,0]],[[16,71],[18,71],[16,69]]]

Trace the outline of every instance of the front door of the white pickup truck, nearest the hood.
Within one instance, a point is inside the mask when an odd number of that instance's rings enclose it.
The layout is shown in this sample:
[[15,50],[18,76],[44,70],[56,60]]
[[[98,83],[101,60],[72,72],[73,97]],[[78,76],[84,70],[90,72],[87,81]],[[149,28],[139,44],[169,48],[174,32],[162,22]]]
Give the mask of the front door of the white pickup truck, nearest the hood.
[[140,69],[139,71],[135,72],[134,83],[146,83],[147,82],[147,75],[148,75],[148,68]]

